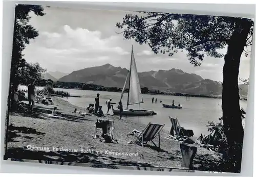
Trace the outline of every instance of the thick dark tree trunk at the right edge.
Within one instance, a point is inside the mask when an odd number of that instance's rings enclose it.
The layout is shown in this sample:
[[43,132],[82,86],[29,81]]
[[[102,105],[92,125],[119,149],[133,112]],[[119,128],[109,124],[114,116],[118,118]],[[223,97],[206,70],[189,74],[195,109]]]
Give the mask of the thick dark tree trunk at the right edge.
[[247,36],[252,22],[238,20],[230,41],[227,54],[224,57],[222,111],[224,132],[227,138],[228,156],[234,170],[240,171],[242,160],[242,146],[244,129],[240,111],[240,96],[238,87],[238,75],[240,57],[246,45]]

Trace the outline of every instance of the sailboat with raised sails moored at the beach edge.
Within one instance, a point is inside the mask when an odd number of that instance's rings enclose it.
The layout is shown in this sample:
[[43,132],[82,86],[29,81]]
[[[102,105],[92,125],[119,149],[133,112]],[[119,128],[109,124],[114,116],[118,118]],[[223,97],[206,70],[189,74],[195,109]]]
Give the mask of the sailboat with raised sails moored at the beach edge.
[[[123,109],[122,115],[145,116],[145,115],[156,114],[153,110],[128,109],[129,105],[144,103],[141,90],[140,90],[140,83],[139,83],[139,77],[138,77],[137,67],[135,63],[135,58],[133,54],[133,46],[132,46],[130,70],[126,75],[126,79],[125,79],[122,93],[121,93],[120,102],[123,97],[124,90],[128,80],[129,80],[129,91],[128,91],[128,97],[127,97],[127,105],[126,105],[126,109]],[[119,114],[119,110],[115,110],[113,107],[112,107],[112,110],[114,114]]]

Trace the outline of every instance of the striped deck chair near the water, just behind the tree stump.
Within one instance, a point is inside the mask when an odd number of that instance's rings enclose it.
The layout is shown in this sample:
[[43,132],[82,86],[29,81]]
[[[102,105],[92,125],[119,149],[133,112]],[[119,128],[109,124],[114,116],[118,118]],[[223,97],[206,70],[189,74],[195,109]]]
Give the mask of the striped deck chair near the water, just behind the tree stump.
[[172,122],[172,127],[170,128],[169,135],[165,137],[169,140],[176,140],[179,142],[186,142],[187,140],[196,143],[193,139],[189,138],[189,136],[185,136],[184,132],[182,131],[182,127],[177,118],[172,118],[169,116],[170,122]]

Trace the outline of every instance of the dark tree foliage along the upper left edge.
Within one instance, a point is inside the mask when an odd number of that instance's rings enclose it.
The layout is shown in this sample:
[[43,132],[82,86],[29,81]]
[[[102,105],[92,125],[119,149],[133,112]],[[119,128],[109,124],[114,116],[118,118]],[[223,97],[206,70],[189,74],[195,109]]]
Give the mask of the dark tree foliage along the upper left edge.
[[[29,64],[24,59],[23,50],[30,43],[30,39],[35,39],[38,36],[36,29],[29,24],[29,12],[34,12],[36,15],[43,16],[45,13],[41,6],[34,5],[17,5],[15,8],[15,23],[13,33],[13,49],[12,49],[12,68],[11,81],[13,86],[17,87],[19,83],[25,83],[27,77],[34,79],[38,78],[39,72],[44,70],[38,63]],[[32,73],[34,72],[34,73]],[[24,74],[29,74],[25,77]]]

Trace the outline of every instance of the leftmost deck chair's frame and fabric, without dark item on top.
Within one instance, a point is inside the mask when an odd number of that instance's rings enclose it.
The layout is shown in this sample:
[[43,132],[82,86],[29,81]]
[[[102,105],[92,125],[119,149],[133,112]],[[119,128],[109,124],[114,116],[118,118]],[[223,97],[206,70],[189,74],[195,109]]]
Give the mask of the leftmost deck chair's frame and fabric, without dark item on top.
[[[97,122],[99,122],[100,120],[106,121],[108,119],[99,119],[97,118]],[[94,124],[94,134],[93,134],[93,139],[97,138],[97,133],[100,133],[100,135],[104,134],[108,134],[111,137],[111,140],[114,140],[113,138],[113,134],[114,134],[114,121],[113,120],[108,120],[108,124],[106,124],[106,127],[102,129],[102,127],[100,127],[97,122]],[[100,136],[99,136],[100,137]],[[100,139],[100,138],[99,138]]]

